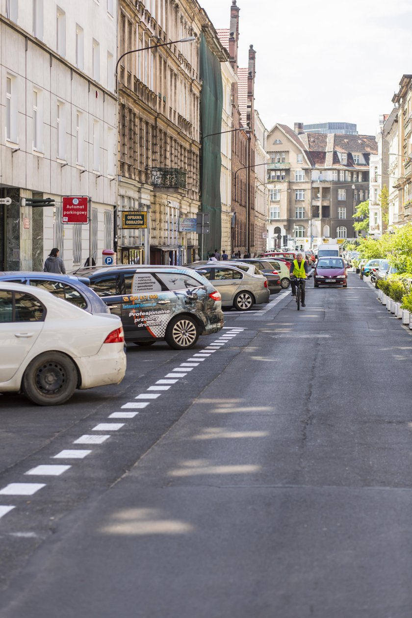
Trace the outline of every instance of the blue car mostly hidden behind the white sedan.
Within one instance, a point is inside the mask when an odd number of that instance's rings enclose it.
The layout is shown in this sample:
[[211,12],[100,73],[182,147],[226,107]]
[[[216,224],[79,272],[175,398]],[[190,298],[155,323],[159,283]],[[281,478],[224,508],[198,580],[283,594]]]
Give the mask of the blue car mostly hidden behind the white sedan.
[[109,307],[90,287],[86,277],[69,274],[38,273],[23,271],[0,271],[0,281],[23,283],[27,286],[41,287],[59,298],[80,307],[88,313],[110,313]]

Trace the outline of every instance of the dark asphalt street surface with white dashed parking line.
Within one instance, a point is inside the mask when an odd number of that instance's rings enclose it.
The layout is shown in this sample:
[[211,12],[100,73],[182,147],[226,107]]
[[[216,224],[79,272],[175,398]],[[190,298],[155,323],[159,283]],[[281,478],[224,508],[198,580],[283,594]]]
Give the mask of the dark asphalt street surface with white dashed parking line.
[[271,301],[0,397],[1,618],[411,617],[412,331],[355,274]]

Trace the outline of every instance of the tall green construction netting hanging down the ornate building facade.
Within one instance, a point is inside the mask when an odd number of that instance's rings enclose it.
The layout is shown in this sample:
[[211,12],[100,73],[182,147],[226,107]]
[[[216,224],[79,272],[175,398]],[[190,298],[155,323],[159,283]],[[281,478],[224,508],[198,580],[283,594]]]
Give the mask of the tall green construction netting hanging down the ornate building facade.
[[[203,87],[200,99],[200,125],[202,135],[222,130],[223,86],[221,63],[212,53],[204,36],[200,40],[200,77]],[[221,251],[221,135],[203,138],[201,148],[201,208],[210,215],[210,233],[204,234],[203,255],[217,248]],[[201,247],[201,237],[200,247]],[[223,247],[227,250],[226,247]],[[230,249],[230,247],[229,247]]]

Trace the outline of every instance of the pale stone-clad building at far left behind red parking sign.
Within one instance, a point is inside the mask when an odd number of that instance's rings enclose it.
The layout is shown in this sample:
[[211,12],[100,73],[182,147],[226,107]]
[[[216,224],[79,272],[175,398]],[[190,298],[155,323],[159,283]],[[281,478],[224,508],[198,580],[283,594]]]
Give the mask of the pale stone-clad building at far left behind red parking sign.
[[[117,2],[1,0],[0,31],[0,269],[43,269],[53,247],[67,269],[101,263],[117,193]],[[62,222],[64,195],[90,198],[90,224]]]

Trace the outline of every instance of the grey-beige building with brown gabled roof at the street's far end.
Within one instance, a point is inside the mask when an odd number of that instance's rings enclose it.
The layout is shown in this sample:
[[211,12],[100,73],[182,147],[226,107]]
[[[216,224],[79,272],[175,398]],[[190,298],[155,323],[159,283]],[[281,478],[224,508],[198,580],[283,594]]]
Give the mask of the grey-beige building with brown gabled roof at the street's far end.
[[[295,246],[317,248],[354,239],[353,213],[369,197],[370,135],[304,133],[277,124],[267,136],[269,240],[292,237]],[[279,245],[278,245],[279,246]]]

